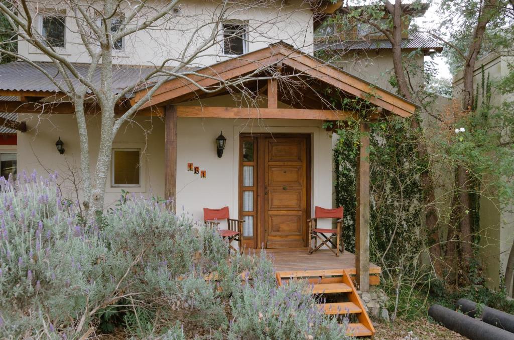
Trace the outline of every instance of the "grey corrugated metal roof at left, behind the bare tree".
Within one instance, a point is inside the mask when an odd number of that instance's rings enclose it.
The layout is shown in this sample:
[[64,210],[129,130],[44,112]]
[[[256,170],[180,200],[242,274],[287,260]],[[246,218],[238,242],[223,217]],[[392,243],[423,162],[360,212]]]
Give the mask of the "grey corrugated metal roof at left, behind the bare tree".
[[[56,65],[49,62],[35,63],[38,67],[45,70],[60,86],[65,87],[66,79],[74,84],[79,81],[73,76],[61,74]],[[80,74],[85,75],[89,69],[88,64],[74,65]],[[151,72],[155,71],[152,66],[134,66],[134,65],[114,65],[113,66],[113,90],[117,92],[135,82],[142,81]],[[150,83],[154,83],[157,77],[151,78]],[[100,69],[97,68],[93,77],[93,82],[100,83]],[[0,65],[0,90],[5,91],[48,91],[59,92],[58,86],[38,68],[25,62],[12,62]],[[49,94],[50,95],[50,94]]]

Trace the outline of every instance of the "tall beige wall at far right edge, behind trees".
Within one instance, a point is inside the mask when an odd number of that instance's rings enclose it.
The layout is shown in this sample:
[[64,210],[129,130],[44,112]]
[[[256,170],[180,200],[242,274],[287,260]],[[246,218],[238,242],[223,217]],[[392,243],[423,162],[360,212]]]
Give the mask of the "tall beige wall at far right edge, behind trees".
[[[482,76],[490,82],[499,81],[512,71],[512,57],[491,53],[476,62],[474,70],[474,84],[479,88],[479,106],[482,103]],[[483,72],[483,73],[482,73]],[[463,72],[453,77],[455,94],[463,89]],[[514,101],[514,95],[502,95],[494,88],[491,89],[492,105],[499,105],[506,101]],[[486,188],[484,188],[486,189]],[[494,192],[486,191],[480,199],[480,248],[479,252],[484,263],[484,271],[490,281],[488,286],[499,288],[505,275],[507,259],[512,242],[514,241],[514,206],[499,202]],[[511,287],[507,287],[508,290]],[[510,292],[512,295],[513,292]]]

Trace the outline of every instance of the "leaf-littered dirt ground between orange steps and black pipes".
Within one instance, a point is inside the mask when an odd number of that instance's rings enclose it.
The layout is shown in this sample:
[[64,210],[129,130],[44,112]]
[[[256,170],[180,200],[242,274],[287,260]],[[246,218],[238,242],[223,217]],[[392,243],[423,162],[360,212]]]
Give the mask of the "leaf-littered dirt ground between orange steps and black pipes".
[[427,319],[416,321],[396,320],[394,324],[379,323],[375,325],[375,340],[465,340],[458,333],[443,326],[430,323]]

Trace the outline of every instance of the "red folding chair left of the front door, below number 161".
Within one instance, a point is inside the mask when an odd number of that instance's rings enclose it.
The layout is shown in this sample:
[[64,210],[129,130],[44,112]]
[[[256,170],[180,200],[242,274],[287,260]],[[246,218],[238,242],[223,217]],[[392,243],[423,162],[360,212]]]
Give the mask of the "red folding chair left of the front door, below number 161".
[[[228,229],[219,229],[219,221],[227,220]],[[243,251],[243,221],[242,219],[230,218],[228,207],[221,209],[204,208],[204,222],[210,227],[216,227],[219,235],[228,242],[229,252],[232,249],[234,252],[237,250],[232,246],[233,241],[239,243],[239,251]]]

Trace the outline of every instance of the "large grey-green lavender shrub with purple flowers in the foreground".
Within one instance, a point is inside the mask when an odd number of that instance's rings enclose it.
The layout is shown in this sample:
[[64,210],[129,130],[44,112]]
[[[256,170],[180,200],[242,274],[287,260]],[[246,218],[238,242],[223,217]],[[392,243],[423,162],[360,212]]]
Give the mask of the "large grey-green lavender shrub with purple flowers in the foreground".
[[276,287],[264,254],[229,263],[216,231],[130,194],[85,223],[56,178],[0,177],[0,337],[79,338],[122,327],[162,340],[342,338],[344,328],[317,310],[304,285]]

